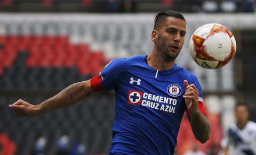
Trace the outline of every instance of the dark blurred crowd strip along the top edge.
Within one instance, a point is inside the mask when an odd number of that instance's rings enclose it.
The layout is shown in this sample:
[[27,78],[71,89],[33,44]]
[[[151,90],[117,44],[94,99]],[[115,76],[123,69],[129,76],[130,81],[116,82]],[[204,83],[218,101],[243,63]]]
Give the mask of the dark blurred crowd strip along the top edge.
[[[31,4],[30,4],[31,3]],[[3,12],[254,12],[254,0],[4,0]],[[28,7],[28,6],[33,7]]]

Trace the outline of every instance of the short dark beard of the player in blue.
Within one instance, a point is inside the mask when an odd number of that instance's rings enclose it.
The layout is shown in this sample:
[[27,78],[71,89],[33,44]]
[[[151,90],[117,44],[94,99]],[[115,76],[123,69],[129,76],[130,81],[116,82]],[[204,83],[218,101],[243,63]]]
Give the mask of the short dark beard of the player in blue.
[[171,49],[170,49],[171,45],[167,45],[166,42],[167,42],[166,39],[163,39],[161,36],[158,36],[156,48],[157,48],[158,52],[161,53],[162,57],[167,62],[171,62],[171,61],[174,61],[178,57],[181,48],[178,52],[171,51]]

